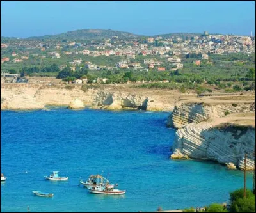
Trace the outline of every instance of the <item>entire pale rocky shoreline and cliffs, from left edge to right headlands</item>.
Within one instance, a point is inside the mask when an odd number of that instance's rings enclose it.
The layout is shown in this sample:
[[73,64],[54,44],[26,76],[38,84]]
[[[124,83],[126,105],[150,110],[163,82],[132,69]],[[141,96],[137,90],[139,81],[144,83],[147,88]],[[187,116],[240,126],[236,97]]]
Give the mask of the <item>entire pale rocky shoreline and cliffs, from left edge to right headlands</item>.
[[[255,147],[255,93],[196,97],[173,91],[123,90],[49,84],[1,84],[1,110],[143,109],[172,112],[167,127],[177,129],[172,159],[211,159],[228,168],[244,169],[244,152]],[[253,170],[248,155],[247,170]]]

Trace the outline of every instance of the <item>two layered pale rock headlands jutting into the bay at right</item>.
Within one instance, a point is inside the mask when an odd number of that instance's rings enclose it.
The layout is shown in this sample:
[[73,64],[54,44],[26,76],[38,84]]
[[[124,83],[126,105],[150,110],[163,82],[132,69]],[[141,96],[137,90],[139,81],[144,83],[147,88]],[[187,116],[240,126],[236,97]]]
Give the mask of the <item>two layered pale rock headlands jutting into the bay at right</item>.
[[[225,116],[225,112],[230,116]],[[168,118],[168,126],[177,130],[173,142],[173,159],[211,159],[228,168],[244,169],[244,152],[255,147],[255,127],[238,125],[255,122],[255,102],[223,104],[177,104]],[[241,113],[243,116],[241,116]],[[238,116],[238,114],[240,116]],[[246,123],[246,122],[245,122]],[[248,155],[247,170],[253,169]]]

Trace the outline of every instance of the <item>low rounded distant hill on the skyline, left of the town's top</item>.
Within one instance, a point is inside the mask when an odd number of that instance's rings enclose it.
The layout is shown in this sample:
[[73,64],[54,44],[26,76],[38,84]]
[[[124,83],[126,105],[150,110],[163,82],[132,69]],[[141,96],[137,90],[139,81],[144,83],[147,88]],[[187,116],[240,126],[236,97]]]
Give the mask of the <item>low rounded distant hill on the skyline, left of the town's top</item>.
[[140,35],[127,33],[123,31],[115,31],[111,29],[79,29],[68,31],[57,35],[33,36],[28,39],[67,39],[67,40],[86,40],[86,39],[102,39],[118,36],[119,38],[138,38]]

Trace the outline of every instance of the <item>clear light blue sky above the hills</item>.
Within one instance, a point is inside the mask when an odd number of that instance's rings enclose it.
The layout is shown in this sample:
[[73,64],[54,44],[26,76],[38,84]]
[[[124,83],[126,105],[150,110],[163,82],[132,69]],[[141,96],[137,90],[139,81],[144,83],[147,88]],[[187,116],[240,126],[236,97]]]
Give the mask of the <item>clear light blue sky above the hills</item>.
[[76,29],[255,35],[255,1],[1,1],[1,36]]

